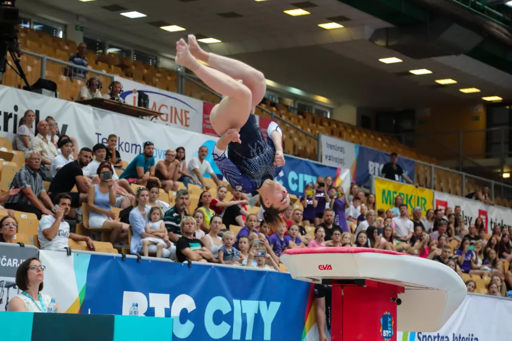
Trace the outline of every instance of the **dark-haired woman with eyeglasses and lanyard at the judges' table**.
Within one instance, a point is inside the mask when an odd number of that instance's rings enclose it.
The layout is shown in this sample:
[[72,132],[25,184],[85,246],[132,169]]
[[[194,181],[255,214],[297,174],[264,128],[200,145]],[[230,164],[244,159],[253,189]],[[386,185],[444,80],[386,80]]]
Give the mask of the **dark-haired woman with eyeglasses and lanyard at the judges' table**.
[[[16,286],[22,290],[12,297],[7,311],[48,312],[52,297],[40,293],[45,279],[46,266],[41,265],[37,257],[29,258],[19,265],[16,271]],[[62,312],[57,302],[57,312]]]

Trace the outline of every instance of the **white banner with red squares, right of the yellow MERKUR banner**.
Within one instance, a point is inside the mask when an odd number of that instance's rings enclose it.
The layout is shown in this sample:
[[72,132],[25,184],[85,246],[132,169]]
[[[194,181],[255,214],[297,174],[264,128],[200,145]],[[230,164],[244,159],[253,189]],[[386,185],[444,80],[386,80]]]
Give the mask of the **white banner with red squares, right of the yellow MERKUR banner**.
[[434,191],[434,209],[444,210],[446,207],[460,206],[466,227],[475,224],[481,217],[487,233],[491,234],[496,225],[512,225],[512,209],[501,206],[491,206],[479,200]]

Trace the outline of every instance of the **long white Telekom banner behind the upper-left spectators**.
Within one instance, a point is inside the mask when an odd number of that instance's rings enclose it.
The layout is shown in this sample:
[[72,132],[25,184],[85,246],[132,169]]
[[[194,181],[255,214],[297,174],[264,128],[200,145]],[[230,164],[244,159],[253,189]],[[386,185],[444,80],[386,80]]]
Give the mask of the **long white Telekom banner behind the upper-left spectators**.
[[[141,153],[142,144],[146,141],[154,143],[154,156],[157,161],[164,159],[167,149],[182,146],[185,148],[188,162],[197,156],[201,145],[207,146],[211,151],[218,140],[214,136],[186,131],[155,121],[4,86],[0,86],[0,105],[0,113],[4,116],[0,120],[2,136],[7,136],[11,143],[14,141],[19,119],[26,110],[31,109],[36,113],[36,121],[47,116],[54,117],[60,131],[66,130],[66,135],[75,137],[79,148],[92,148],[96,143],[106,144],[108,136],[116,134],[117,150],[121,154],[121,159],[128,162]],[[208,154],[206,160],[210,162],[214,172],[220,174],[211,154]]]

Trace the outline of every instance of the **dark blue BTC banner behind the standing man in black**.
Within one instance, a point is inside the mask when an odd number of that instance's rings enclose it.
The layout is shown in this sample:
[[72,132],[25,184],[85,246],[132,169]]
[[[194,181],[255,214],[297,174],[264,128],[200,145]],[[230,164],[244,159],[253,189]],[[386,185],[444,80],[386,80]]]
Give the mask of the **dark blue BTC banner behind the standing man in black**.
[[[371,176],[380,176],[382,174],[382,167],[390,161],[390,155],[373,148],[359,146],[354,182],[360,186],[369,187]],[[397,163],[402,167],[403,173],[414,181],[414,161],[398,156]],[[400,182],[405,183],[406,181],[400,177]]]

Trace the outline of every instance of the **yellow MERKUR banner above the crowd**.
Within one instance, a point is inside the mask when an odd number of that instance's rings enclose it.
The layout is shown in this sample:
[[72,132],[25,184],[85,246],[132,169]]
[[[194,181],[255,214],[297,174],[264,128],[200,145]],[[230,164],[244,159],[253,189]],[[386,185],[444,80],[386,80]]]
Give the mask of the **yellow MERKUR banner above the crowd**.
[[434,191],[431,189],[416,188],[413,185],[386,179],[375,178],[375,203],[377,208],[388,209],[395,206],[395,198],[402,196],[403,203],[409,208],[412,215],[413,208],[421,207],[423,215],[426,210],[433,208]]

